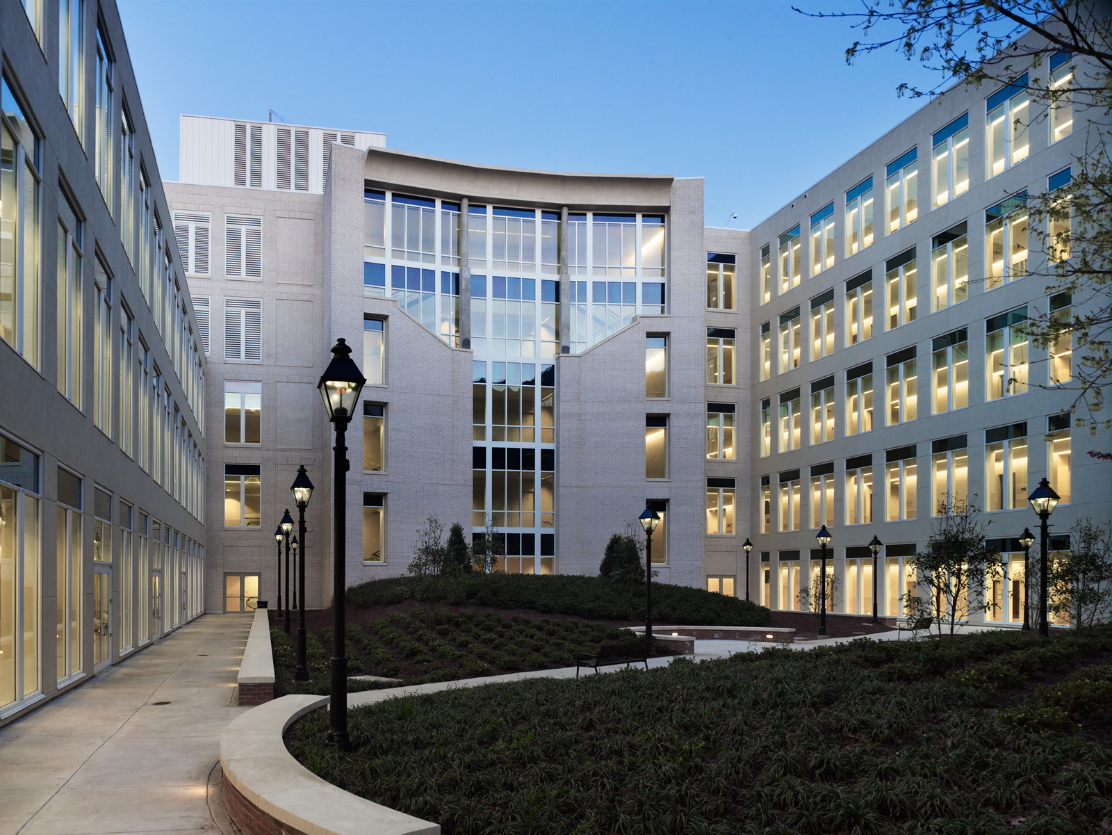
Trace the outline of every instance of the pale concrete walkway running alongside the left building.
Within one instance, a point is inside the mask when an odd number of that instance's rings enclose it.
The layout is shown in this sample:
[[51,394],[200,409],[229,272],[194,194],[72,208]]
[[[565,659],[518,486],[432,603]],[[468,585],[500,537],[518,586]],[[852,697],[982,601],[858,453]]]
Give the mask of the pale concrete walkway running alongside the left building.
[[219,833],[209,774],[249,709],[231,699],[250,625],[206,615],[0,729],[0,835]]

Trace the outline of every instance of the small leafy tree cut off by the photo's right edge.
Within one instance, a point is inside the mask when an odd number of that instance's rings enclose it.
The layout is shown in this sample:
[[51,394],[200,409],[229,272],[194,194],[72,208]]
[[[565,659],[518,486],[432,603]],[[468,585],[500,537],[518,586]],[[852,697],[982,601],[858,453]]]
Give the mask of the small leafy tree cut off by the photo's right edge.
[[1079,632],[1112,614],[1112,530],[1083,519],[1073,530],[1072,547],[1048,566],[1048,606],[1069,618]]

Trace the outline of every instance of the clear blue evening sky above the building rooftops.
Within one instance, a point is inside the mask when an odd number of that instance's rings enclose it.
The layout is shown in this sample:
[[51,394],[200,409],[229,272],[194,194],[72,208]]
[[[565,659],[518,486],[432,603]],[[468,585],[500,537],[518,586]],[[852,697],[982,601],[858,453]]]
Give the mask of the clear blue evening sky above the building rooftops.
[[901,81],[932,80],[893,51],[846,66],[848,22],[784,0],[118,4],[169,180],[179,113],[272,108],[435,157],[705,177],[706,223],[748,228],[922,106]]

